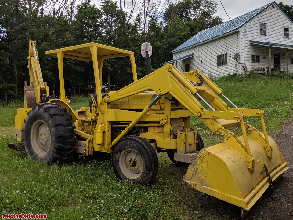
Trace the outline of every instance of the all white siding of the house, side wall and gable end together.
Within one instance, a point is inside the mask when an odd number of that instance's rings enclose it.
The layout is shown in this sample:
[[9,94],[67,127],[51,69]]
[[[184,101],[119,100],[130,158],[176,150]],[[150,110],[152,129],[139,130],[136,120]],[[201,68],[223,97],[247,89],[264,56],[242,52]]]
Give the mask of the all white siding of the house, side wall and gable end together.
[[[259,23],[267,24],[267,36],[259,34]],[[284,26],[289,27],[289,39],[283,38]],[[198,46],[195,45],[187,50],[175,52],[173,54],[174,59],[191,53],[194,53],[194,56],[179,60],[175,62],[174,65],[183,73],[185,71],[185,64],[190,64],[190,70],[195,68],[201,69],[202,61],[203,72],[211,78],[218,78],[233,74],[237,70],[240,74],[243,72],[241,65],[235,67],[237,62],[233,60],[232,57],[236,53],[240,53],[238,61],[240,61],[241,64],[246,64],[248,70],[258,67],[266,68],[269,66],[269,47],[251,44],[249,42],[250,40],[293,45],[293,24],[276,5],[272,5],[253,18],[245,24],[245,26],[240,28],[239,31],[240,32],[226,35],[219,39],[199,44]],[[217,55],[224,53],[228,55],[227,65],[217,67]],[[272,47],[271,68],[274,68],[273,56],[275,53],[281,54],[281,70],[285,68],[287,72],[287,49]],[[229,56],[230,54],[232,57]],[[251,55],[259,55],[260,62],[252,63]],[[293,49],[289,49],[289,71],[293,71],[293,64],[291,64],[292,57]]]

